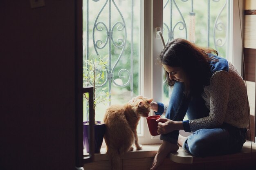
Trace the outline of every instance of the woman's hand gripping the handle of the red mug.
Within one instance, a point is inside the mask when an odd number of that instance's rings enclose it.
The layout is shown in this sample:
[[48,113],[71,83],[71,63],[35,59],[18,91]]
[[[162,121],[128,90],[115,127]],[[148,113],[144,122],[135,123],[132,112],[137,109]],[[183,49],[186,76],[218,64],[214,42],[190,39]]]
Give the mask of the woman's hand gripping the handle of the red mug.
[[[160,117],[156,121],[158,122],[157,133],[159,135],[170,133],[173,130],[180,130],[180,125],[182,125],[182,121],[181,122],[173,121],[173,120],[166,119],[163,117]],[[182,127],[183,127],[183,125],[182,125]]]

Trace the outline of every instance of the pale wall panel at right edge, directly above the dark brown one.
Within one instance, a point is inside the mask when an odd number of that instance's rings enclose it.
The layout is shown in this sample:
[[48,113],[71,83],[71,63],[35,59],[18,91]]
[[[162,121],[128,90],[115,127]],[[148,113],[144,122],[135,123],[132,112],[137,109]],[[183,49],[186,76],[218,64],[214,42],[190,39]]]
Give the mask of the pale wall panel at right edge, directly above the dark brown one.
[[256,49],[256,15],[245,15],[244,47]]

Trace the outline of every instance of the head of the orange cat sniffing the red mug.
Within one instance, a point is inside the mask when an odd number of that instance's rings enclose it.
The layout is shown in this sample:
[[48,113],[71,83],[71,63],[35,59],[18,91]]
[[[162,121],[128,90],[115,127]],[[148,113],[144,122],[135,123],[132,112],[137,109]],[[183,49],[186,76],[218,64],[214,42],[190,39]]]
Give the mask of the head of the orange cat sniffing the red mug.
[[153,98],[146,98],[142,96],[138,96],[134,100],[134,104],[136,106],[136,113],[141,117],[148,117],[150,112],[150,103],[153,101]]

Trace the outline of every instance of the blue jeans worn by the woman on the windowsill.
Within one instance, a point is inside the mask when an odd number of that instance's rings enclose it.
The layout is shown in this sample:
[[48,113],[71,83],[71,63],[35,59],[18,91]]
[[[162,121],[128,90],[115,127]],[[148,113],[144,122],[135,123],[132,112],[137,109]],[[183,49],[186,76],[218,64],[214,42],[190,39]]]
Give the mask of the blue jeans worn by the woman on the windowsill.
[[[189,120],[207,117],[209,109],[204,104],[201,94],[188,99],[184,93],[184,84],[175,82],[165,117],[174,121],[182,121],[187,115]],[[246,140],[246,128],[236,128],[223,124],[217,128],[200,129],[191,134],[182,148],[192,155],[207,157],[223,155],[241,150]],[[179,131],[175,130],[160,136],[160,139],[177,144]]]

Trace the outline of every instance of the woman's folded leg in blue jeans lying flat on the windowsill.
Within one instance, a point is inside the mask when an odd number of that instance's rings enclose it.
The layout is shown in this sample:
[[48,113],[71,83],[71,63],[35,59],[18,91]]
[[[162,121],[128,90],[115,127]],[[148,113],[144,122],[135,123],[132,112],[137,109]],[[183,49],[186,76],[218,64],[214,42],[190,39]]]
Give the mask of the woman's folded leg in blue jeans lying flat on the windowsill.
[[224,125],[220,128],[195,131],[182,147],[198,157],[224,155],[241,150],[245,139],[246,129]]

